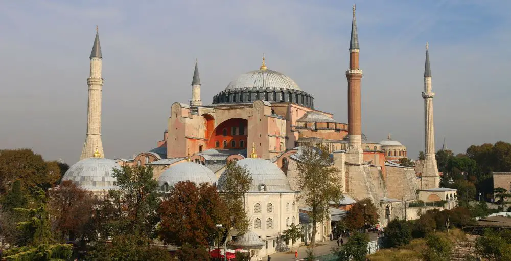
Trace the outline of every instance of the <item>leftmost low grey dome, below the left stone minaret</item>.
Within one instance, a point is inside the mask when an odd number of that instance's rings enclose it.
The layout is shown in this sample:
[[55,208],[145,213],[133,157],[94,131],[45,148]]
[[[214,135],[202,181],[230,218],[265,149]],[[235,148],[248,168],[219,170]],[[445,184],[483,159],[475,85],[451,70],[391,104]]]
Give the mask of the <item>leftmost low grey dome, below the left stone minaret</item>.
[[90,191],[117,189],[117,179],[112,175],[114,168],[121,169],[114,160],[100,157],[87,158],[69,167],[62,181],[73,181],[77,186]]

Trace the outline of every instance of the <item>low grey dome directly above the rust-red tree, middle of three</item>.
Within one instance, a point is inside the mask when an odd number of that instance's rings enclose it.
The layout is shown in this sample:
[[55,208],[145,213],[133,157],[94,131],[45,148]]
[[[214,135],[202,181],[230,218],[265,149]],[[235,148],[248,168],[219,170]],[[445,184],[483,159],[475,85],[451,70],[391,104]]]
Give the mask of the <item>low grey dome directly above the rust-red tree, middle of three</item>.
[[[195,162],[182,162],[161,173],[158,183],[162,191],[167,191],[169,187],[174,186],[180,181],[191,181],[199,186],[200,183],[210,183],[216,185],[217,176],[204,165]],[[167,188],[164,188],[167,184]]]

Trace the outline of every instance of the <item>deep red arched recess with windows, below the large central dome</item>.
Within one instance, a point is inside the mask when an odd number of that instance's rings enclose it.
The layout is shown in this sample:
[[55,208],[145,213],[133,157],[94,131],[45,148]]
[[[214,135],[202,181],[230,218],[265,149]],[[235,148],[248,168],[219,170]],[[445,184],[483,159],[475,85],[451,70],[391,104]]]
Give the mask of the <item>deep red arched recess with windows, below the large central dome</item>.
[[[213,126],[213,125],[212,125]],[[235,135],[233,135],[233,127],[236,129]],[[248,132],[248,120],[242,118],[231,118],[222,123],[220,123],[215,129],[212,130],[208,141],[208,147],[214,148],[216,141],[220,141],[220,145],[223,147],[223,141],[227,141],[226,148],[236,148],[239,149],[240,141],[243,140],[243,146],[245,147],[247,140],[247,132]],[[213,128],[213,127],[212,127]],[[227,136],[223,136],[222,131],[227,130]],[[235,141],[233,143],[232,141]],[[235,147],[232,144],[236,144]]]

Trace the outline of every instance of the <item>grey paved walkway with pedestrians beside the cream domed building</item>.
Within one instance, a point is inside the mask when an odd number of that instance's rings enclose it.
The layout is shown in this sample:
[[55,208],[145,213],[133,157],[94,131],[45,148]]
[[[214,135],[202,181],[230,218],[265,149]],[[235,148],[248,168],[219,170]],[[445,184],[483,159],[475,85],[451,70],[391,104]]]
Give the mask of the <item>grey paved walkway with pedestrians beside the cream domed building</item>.
[[[371,241],[376,240],[378,238],[376,233],[369,233],[369,238]],[[344,243],[348,241],[349,238],[343,237],[342,238]],[[328,255],[332,253],[332,248],[337,248],[337,240],[327,240],[326,242],[318,242],[316,243],[316,247],[313,248],[314,256],[321,256],[321,255]],[[301,246],[301,247],[294,247],[292,253],[288,252],[277,252],[274,254],[271,254],[271,261],[287,261],[287,260],[295,260],[294,259],[294,251],[298,250],[298,260],[303,259],[307,256],[305,251],[307,250],[307,246]],[[291,251],[291,250],[289,250]],[[268,260],[268,256],[263,256],[261,260],[266,261]]]

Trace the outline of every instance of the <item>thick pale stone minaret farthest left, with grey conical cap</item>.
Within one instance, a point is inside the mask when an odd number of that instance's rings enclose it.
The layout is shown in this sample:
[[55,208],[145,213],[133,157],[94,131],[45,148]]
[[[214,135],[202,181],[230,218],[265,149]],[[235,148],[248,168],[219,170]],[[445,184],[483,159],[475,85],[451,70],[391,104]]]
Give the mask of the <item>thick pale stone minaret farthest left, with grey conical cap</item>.
[[89,85],[89,98],[87,103],[87,136],[83,144],[80,160],[94,157],[95,151],[104,157],[103,143],[101,142],[101,92],[103,89],[103,78],[101,78],[101,45],[99,43],[99,32],[96,27],[96,39],[90,52],[90,75],[87,79]]

